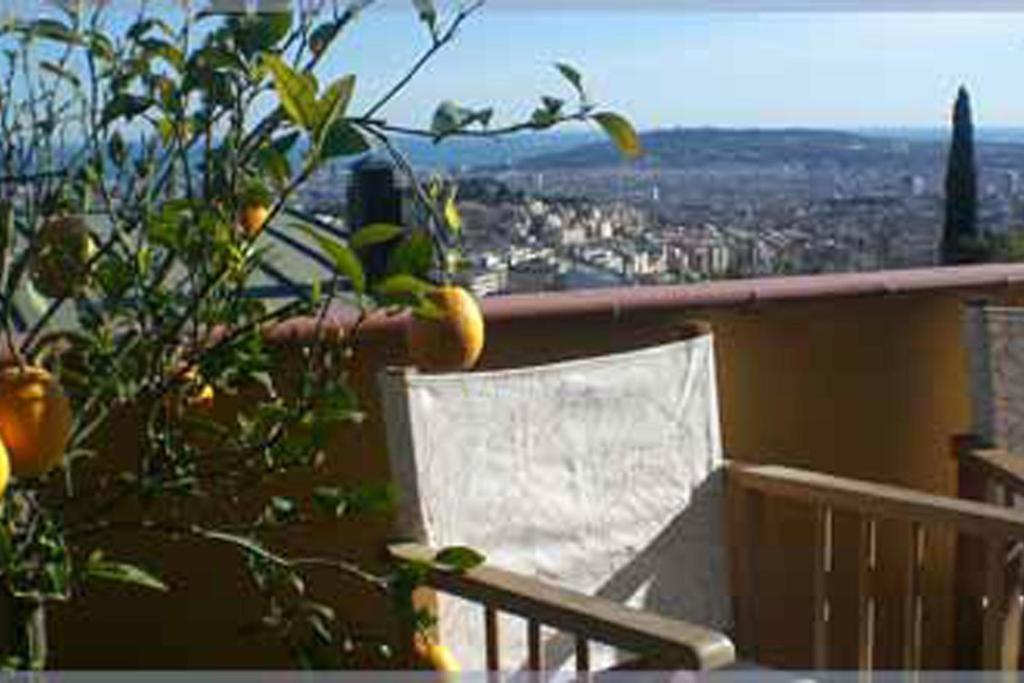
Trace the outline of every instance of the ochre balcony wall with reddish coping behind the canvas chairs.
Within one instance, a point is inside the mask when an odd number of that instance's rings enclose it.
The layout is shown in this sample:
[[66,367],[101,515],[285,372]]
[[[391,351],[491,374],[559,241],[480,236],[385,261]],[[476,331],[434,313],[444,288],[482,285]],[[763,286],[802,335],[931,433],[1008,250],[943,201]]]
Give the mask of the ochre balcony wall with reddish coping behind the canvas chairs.
[[[485,302],[483,368],[578,357],[656,342],[673,326],[699,317],[716,333],[723,433],[731,458],[953,494],[949,440],[969,429],[962,309],[972,299],[1024,300],[1024,267],[942,270],[724,282],[690,287],[634,288],[504,297]],[[289,349],[309,325],[275,334],[287,375]],[[368,421],[339,433],[317,482],[386,480],[387,457],[374,377],[404,358],[400,318],[375,322],[359,336],[355,362]],[[468,464],[470,465],[470,464]],[[306,481],[283,484],[299,490]],[[538,482],[539,490],[543,482]],[[810,517],[799,508],[770,507],[762,656],[767,664],[809,666]],[[852,628],[856,552],[853,520],[837,520],[837,563],[830,668],[855,666]],[[389,523],[345,522],[290,532],[295,552],[375,558]],[[882,526],[878,665],[898,668],[899,587],[904,529]],[[181,542],[146,547],[109,538],[158,567],[174,587],[168,595],[97,587],[75,608],[51,614],[55,664],[66,668],[263,668],[287,666],[272,639],[243,636],[258,616],[232,551]],[[156,550],[159,560],[148,559]],[[926,578],[926,663],[952,666],[951,539],[935,537]],[[386,633],[382,603],[351,582],[325,571],[313,578],[339,613]],[[778,628],[784,625],[784,628]],[[774,628],[768,628],[774,627]],[[806,627],[806,628],[804,628]]]

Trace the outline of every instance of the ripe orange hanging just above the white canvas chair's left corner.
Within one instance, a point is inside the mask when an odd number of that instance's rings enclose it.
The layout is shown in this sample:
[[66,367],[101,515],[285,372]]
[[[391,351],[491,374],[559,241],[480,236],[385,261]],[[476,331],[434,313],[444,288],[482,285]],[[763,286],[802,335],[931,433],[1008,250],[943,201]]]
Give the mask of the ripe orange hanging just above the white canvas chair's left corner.
[[421,370],[469,370],[483,351],[483,316],[476,300],[454,286],[439,287],[427,297],[440,316],[410,319],[406,329],[410,358]]

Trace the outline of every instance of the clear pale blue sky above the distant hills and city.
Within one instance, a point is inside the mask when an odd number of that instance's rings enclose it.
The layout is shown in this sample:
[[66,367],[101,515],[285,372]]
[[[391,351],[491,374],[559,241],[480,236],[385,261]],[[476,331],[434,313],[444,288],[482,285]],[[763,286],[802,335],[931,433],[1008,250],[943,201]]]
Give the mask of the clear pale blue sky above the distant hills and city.
[[[944,127],[961,84],[979,127],[1024,127],[1024,0],[1015,1],[1022,11],[708,11],[709,0],[632,5],[644,9],[629,9],[626,0],[490,0],[383,115],[426,126],[436,105],[453,99],[495,106],[498,123],[521,120],[542,94],[571,98],[552,66],[566,61],[584,74],[594,100],[641,129]],[[349,27],[319,74],[333,80],[355,73],[356,111],[429,43],[411,2],[383,2]],[[436,2],[442,15],[453,7],[453,0]]]

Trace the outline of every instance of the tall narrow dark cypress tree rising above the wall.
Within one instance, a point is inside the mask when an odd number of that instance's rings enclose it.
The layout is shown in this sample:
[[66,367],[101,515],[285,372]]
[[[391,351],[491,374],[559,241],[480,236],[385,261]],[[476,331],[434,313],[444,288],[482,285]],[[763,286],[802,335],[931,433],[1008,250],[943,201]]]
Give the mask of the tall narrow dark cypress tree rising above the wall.
[[946,216],[942,229],[942,263],[985,260],[978,232],[978,172],[974,163],[971,97],[961,86],[953,104],[953,137],[946,167]]

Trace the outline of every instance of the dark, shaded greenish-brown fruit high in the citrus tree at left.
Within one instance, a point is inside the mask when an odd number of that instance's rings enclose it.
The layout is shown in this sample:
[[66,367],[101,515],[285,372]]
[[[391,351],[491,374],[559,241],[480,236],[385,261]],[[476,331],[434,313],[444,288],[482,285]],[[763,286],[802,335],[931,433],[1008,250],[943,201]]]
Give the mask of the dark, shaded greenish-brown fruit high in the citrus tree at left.
[[89,282],[89,262],[96,255],[96,241],[80,216],[47,220],[36,234],[32,282],[52,299],[82,294]]

